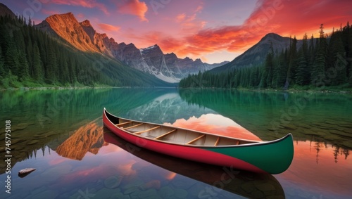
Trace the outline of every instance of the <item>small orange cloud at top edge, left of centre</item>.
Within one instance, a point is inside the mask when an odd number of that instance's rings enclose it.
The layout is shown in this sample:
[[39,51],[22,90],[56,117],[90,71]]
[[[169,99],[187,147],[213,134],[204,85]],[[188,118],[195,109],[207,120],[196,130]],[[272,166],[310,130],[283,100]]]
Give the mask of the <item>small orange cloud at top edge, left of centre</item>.
[[148,22],[148,19],[146,19],[146,11],[148,11],[148,6],[146,6],[145,2],[130,0],[123,3],[118,3],[118,11],[122,14],[136,15],[141,21]]

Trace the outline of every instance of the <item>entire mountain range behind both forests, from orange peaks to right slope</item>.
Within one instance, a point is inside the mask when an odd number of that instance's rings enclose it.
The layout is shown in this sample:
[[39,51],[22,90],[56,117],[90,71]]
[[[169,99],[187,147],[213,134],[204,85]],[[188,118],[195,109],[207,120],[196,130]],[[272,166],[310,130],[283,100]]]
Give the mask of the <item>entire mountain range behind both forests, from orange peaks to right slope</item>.
[[[15,16],[4,4],[0,4],[0,11],[1,15]],[[178,58],[175,53],[163,53],[158,44],[138,49],[132,43],[118,43],[107,34],[96,32],[89,20],[78,22],[73,13],[51,15],[35,27],[51,36],[67,41],[73,49],[87,55],[89,53],[100,54],[170,83],[180,82],[180,79],[199,71],[226,72],[234,68],[250,68],[253,65],[260,65],[265,60],[271,46],[275,53],[279,53],[287,49],[291,41],[289,37],[269,33],[231,62],[208,64],[203,63],[201,59]],[[301,46],[301,41],[298,40],[297,48]]]

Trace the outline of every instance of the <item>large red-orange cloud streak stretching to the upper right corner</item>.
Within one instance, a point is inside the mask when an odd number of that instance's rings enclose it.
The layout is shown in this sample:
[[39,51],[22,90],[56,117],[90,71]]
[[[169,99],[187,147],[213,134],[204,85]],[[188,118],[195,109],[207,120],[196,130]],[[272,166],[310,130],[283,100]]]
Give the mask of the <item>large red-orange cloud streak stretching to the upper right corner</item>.
[[318,35],[322,23],[325,32],[330,32],[332,27],[345,25],[352,18],[351,6],[348,0],[260,0],[242,25],[200,30],[182,39],[165,37],[160,46],[180,56],[189,53],[199,56],[221,50],[241,53],[270,32],[284,37],[296,35],[301,39],[305,33]]

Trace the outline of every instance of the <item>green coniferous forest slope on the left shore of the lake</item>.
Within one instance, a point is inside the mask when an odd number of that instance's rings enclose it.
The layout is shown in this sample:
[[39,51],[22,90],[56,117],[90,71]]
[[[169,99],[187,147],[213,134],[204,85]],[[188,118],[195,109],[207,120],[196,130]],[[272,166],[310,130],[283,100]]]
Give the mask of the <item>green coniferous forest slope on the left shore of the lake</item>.
[[34,27],[0,16],[0,87],[165,86],[152,75],[98,53],[83,53]]

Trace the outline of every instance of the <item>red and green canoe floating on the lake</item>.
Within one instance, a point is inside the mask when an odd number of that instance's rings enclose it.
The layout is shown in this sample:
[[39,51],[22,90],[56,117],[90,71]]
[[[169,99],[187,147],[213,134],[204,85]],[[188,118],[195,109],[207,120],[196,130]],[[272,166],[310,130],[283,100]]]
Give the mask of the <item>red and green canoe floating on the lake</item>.
[[117,117],[103,109],[103,124],[142,148],[186,160],[250,172],[279,174],[294,158],[291,134],[274,141],[251,141]]

